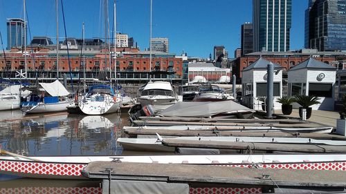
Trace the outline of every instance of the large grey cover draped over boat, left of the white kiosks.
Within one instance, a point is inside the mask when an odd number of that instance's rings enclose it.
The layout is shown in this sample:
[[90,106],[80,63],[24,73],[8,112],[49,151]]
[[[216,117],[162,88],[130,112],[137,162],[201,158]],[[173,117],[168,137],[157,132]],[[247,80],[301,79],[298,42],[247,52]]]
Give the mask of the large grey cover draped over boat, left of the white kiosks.
[[235,101],[179,101],[173,106],[161,110],[158,115],[164,117],[212,117],[221,113],[239,111],[255,113],[255,110],[237,104]]

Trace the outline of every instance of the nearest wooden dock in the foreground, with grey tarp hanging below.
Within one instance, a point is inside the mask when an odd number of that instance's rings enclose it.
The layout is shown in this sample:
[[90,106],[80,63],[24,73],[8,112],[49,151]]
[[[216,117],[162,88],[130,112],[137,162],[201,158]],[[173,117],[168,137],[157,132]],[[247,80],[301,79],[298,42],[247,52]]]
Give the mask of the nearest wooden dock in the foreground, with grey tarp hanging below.
[[219,186],[345,187],[345,171],[236,168],[192,164],[91,162],[82,175],[90,179],[180,182]]

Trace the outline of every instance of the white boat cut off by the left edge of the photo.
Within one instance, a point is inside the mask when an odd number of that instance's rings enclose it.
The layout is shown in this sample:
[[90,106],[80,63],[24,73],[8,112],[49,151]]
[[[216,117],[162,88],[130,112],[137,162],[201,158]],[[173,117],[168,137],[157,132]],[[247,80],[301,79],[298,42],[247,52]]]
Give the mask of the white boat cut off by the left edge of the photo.
[[20,85],[13,85],[8,86],[0,91],[0,110],[12,110],[20,108],[20,97],[27,97],[30,95],[30,91],[21,91],[21,95],[19,95],[19,90],[21,90]]

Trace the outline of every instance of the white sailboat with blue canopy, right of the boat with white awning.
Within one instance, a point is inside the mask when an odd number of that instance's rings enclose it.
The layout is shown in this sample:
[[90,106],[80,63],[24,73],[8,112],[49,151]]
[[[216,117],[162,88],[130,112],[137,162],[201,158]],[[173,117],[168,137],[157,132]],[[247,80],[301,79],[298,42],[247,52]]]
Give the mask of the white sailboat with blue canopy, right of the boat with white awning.
[[117,97],[109,85],[95,85],[89,92],[78,99],[78,108],[86,115],[104,115],[116,113],[120,108],[121,98]]

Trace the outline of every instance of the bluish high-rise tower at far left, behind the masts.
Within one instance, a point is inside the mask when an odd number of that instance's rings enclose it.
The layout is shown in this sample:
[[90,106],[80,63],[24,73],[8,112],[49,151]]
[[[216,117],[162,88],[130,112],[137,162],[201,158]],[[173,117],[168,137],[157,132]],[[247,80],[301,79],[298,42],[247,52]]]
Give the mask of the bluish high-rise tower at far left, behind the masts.
[[24,19],[7,19],[7,49],[24,46]]

